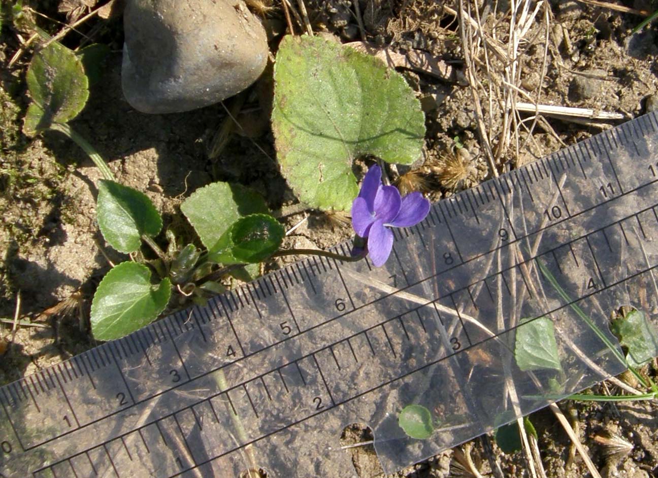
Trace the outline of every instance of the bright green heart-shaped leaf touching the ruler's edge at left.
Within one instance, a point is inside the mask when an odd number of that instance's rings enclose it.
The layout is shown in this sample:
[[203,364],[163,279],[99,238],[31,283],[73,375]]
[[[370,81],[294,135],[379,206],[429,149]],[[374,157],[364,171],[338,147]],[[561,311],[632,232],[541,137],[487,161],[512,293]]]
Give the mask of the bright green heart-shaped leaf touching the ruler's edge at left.
[[122,262],[105,274],[91,302],[91,333],[113,340],[153,322],[164,310],[171,283],[151,285],[151,272],[136,262]]

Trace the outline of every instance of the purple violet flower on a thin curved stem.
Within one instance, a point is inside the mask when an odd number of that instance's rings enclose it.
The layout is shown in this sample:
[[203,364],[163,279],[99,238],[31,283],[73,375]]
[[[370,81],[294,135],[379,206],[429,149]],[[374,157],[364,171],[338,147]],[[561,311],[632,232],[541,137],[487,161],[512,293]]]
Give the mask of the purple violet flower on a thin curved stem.
[[382,185],[382,169],[368,170],[359,196],[352,203],[352,226],[368,239],[368,254],[375,267],[384,265],[393,248],[389,227],[411,227],[430,212],[430,201],[415,192],[401,197],[395,186]]

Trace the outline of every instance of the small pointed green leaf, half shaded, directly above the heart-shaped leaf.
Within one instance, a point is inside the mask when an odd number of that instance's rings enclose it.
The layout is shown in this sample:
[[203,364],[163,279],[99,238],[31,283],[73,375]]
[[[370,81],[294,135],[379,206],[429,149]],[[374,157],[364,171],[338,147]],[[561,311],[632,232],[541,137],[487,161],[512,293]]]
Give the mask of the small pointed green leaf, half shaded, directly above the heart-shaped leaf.
[[141,235],[155,236],[163,220],[151,200],[132,187],[101,179],[97,201],[98,226],[105,241],[119,252],[134,252]]

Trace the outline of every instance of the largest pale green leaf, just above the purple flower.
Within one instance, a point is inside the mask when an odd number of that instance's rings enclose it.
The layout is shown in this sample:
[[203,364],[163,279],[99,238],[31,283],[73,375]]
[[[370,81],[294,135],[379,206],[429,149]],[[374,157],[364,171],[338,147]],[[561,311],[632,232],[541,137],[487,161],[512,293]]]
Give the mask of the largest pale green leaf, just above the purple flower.
[[282,173],[312,207],[348,210],[355,158],[411,164],[425,133],[420,102],[384,63],[320,37],[284,37],[274,65],[274,131]]

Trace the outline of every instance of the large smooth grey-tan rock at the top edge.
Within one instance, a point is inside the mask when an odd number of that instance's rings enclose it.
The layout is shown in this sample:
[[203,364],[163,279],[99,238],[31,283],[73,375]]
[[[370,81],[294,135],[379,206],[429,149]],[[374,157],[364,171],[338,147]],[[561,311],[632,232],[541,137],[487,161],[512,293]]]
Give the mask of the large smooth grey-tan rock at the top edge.
[[124,96],[145,113],[217,103],[267,62],[263,25],[242,0],[128,0],[124,31]]

